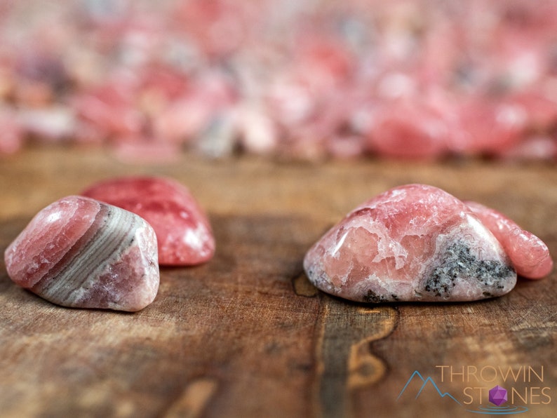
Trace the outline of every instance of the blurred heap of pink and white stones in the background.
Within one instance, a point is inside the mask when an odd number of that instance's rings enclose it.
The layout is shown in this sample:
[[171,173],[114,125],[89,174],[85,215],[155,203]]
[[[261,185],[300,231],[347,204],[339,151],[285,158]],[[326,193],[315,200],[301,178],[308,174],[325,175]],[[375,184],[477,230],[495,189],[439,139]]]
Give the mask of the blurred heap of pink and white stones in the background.
[[557,157],[557,0],[3,0],[0,156]]

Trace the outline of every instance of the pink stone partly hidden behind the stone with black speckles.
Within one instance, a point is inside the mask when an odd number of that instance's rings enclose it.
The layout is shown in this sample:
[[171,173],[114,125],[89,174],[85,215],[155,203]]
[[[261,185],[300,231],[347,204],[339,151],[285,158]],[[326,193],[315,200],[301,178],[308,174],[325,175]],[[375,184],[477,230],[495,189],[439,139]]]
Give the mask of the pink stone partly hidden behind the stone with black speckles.
[[480,203],[464,202],[495,235],[511,258],[516,273],[525,278],[543,278],[551,273],[553,259],[547,245],[497,210]]

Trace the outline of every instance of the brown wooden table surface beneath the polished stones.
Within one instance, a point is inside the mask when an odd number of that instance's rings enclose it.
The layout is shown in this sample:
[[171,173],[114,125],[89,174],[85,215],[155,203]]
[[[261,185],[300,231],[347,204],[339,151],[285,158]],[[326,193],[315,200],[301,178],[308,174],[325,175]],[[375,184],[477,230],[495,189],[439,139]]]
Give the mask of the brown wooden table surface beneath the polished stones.
[[[345,213],[410,182],[501,210],[557,258],[553,166],[192,155],[134,165],[100,149],[31,148],[0,160],[1,252],[56,199],[140,173],[192,190],[214,259],[161,268],[154,303],[135,314],[55,306],[0,262],[0,417],[557,416],[555,273],[482,302],[366,305],[319,292],[302,269]],[[501,407],[489,402],[497,384]]]

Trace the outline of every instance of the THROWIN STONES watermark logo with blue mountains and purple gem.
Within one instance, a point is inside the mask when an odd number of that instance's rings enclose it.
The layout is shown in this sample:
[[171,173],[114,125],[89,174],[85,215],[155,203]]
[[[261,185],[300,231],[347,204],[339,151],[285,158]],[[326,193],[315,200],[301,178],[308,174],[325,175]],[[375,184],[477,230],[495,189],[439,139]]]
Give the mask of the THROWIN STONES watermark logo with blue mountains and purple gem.
[[417,399],[424,393],[431,398],[431,393],[436,393],[439,402],[455,403],[471,414],[490,415],[523,414],[530,405],[551,403],[551,388],[544,385],[543,366],[436,365],[434,370],[430,375],[412,372],[397,400]]

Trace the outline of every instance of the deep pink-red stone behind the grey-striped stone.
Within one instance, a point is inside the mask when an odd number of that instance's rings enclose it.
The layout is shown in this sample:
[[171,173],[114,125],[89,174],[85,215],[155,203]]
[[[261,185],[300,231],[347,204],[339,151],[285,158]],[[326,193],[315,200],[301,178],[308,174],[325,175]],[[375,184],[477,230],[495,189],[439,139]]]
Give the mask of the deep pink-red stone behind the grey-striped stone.
[[165,177],[121,177],[93,184],[83,196],[140,215],[159,241],[159,264],[187,266],[215,253],[208,217],[189,190]]

